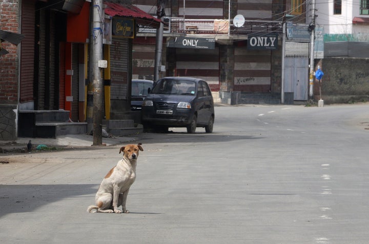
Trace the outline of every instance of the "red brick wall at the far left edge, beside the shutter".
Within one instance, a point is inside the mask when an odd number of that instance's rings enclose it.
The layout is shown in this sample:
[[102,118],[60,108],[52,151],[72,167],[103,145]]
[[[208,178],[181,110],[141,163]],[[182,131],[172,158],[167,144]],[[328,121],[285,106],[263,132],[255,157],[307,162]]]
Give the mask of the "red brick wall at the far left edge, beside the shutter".
[[[18,33],[18,0],[0,1],[0,29]],[[2,48],[9,53],[0,57],[0,104],[17,104],[17,47],[3,42]]]

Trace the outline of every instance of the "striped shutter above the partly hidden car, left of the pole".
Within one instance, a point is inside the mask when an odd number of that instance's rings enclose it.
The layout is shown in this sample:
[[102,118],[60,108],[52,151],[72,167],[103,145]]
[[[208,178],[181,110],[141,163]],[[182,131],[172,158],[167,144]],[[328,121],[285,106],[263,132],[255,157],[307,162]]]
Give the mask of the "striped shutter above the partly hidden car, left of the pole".
[[154,79],[155,45],[134,44],[132,79]]

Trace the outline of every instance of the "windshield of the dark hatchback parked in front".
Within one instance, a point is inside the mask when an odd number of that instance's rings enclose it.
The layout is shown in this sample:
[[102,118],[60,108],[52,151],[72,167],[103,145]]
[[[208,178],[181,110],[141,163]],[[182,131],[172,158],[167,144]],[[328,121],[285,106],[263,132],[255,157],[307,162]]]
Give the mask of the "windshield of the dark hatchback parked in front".
[[191,80],[162,79],[153,88],[155,94],[194,95],[196,83]]

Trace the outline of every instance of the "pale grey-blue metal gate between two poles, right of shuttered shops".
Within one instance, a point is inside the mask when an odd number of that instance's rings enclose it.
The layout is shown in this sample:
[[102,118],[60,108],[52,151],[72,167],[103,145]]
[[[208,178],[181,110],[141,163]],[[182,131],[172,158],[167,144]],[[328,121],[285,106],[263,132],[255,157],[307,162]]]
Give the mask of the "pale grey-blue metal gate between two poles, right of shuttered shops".
[[308,100],[309,59],[284,59],[284,92],[293,93],[294,100]]

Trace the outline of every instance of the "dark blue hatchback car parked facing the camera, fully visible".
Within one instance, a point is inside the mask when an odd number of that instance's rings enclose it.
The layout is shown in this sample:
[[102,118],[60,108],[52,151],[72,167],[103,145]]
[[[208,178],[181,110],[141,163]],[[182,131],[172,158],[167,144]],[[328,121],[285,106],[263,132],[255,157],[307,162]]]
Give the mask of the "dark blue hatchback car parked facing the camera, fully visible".
[[214,101],[209,85],[202,79],[164,77],[142,104],[142,124],[145,128],[168,131],[169,127],[186,127],[195,133],[196,127],[213,132]]

